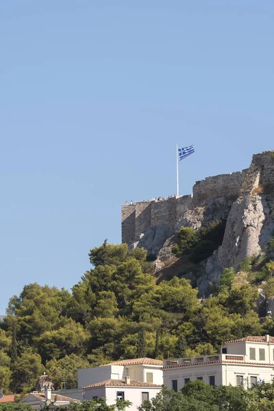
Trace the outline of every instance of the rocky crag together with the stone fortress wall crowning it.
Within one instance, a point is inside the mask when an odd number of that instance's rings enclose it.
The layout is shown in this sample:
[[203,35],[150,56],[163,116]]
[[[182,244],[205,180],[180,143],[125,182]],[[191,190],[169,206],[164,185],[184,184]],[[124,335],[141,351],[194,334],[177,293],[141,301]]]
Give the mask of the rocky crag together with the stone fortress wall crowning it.
[[[198,286],[199,296],[208,297],[210,284],[218,283],[225,268],[237,269],[245,258],[260,256],[273,237],[274,151],[253,155],[247,170],[197,182],[191,198],[137,203],[134,208],[122,210],[124,241],[147,249],[159,278],[186,275]],[[181,227],[197,232],[217,223],[224,224],[222,237],[211,253],[197,259],[203,260],[200,264],[175,258],[172,249]]]

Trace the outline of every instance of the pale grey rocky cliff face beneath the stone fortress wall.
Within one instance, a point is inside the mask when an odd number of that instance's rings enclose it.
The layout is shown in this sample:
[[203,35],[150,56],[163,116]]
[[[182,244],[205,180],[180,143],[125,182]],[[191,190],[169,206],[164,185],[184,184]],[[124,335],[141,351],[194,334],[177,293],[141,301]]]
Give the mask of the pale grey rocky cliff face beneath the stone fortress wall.
[[[218,282],[223,269],[236,269],[246,257],[257,256],[274,234],[274,151],[253,155],[251,166],[240,177],[240,194],[235,201],[229,195],[201,201],[175,223],[177,232],[182,226],[199,229],[211,221],[227,220],[221,247],[200,264],[202,275],[196,281],[201,296],[210,293],[210,283]],[[170,225],[162,223],[150,227],[134,247],[145,247],[156,258],[156,270],[161,271],[175,261],[171,252],[175,239]]]

